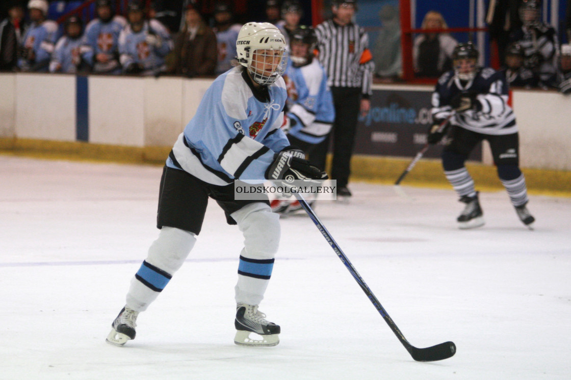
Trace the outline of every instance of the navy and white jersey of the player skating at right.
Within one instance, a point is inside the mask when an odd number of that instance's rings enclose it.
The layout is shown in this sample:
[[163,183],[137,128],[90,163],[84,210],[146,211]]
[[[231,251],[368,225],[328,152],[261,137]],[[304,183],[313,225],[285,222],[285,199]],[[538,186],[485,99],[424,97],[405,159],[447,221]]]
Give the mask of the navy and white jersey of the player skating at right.
[[445,72],[432,93],[432,118],[446,119],[452,113],[451,100],[461,92],[477,93],[479,111],[468,110],[451,118],[452,125],[484,134],[517,132],[516,115],[508,105],[508,83],[502,72],[482,68],[468,82],[461,81],[454,71]]

